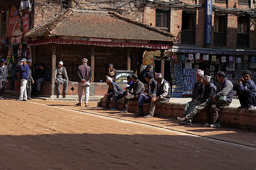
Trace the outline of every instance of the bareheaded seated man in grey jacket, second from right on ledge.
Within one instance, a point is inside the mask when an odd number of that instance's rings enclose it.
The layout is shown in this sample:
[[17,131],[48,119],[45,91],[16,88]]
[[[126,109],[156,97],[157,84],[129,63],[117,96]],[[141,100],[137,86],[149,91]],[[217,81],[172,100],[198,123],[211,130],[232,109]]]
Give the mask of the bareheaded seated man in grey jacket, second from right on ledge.
[[212,97],[213,104],[208,104],[205,107],[207,123],[204,125],[212,128],[220,126],[218,112],[231,104],[234,93],[233,83],[226,78],[223,71],[217,73],[217,80],[219,84]]

